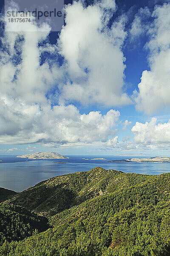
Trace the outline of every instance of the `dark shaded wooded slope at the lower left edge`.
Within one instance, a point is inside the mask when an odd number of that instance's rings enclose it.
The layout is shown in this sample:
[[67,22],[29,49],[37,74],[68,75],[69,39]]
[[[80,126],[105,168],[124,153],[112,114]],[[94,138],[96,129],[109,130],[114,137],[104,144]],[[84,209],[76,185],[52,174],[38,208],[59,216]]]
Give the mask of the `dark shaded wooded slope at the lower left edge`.
[[0,244],[21,240],[31,236],[35,230],[47,230],[48,219],[40,217],[27,209],[8,204],[0,204]]

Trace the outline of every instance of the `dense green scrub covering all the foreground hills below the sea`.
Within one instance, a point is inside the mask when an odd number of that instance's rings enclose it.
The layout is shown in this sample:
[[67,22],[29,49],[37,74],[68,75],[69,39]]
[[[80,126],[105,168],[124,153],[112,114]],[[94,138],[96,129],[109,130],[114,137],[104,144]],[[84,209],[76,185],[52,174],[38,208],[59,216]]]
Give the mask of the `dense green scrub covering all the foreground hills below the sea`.
[[[34,224],[32,235],[21,236],[18,228],[19,236],[11,237],[3,231],[7,241],[1,256],[170,255],[170,173],[126,174],[96,167],[43,181],[6,203],[48,215],[51,228],[41,232]],[[33,213],[8,204],[2,207],[14,216],[21,209],[32,218]]]

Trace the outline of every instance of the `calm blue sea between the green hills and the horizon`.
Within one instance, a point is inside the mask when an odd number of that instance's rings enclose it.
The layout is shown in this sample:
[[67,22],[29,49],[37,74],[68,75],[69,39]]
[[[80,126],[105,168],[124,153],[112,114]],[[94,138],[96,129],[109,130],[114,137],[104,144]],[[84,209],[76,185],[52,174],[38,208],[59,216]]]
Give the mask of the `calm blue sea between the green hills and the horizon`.
[[[27,160],[16,156],[0,156],[0,187],[21,192],[42,180],[73,172],[88,171],[96,166],[122,172],[159,175],[170,172],[170,163],[107,163],[107,160],[127,159],[118,156],[68,156],[69,159]],[[107,160],[90,160],[104,157]],[[135,156],[134,156],[135,157]],[[89,160],[84,160],[89,159]],[[67,163],[54,163],[67,162]]]

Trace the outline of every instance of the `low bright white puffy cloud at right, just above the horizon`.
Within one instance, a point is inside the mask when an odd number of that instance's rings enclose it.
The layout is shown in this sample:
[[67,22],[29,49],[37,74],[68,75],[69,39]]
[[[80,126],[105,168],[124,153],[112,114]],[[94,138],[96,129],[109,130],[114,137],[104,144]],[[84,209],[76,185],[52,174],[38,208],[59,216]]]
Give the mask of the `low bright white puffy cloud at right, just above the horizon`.
[[150,122],[136,122],[132,127],[133,137],[118,140],[118,136],[111,137],[104,147],[112,150],[167,150],[170,149],[170,120],[165,123],[157,123],[156,117]]

